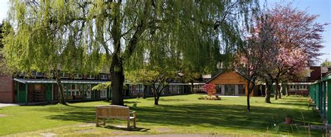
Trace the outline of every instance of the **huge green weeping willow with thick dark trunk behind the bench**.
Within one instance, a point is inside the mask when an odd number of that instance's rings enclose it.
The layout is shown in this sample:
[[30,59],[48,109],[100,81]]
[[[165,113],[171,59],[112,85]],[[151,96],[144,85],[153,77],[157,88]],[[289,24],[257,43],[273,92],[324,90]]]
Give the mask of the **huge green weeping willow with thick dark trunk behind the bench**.
[[196,71],[215,70],[220,51],[240,42],[240,29],[256,6],[256,0],[11,0],[8,22],[14,27],[4,38],[5,49],[8,63],[22,71],[58,75],[55,70],[98,71],[109,65],[112,104],[124,105],[124,70],[159,65],[165,59],[160,53],[166,58],[174,53],[182,66]]

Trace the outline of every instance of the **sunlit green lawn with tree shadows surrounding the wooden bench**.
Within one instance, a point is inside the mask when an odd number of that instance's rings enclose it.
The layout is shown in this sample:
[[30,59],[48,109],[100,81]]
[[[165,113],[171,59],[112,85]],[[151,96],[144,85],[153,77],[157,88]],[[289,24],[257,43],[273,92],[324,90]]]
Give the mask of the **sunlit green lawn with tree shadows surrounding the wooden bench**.
[[[9,106],[0,108],[0,135],[34,136],[52,133],[61,136],[107,136],[132,134],[216,134],[307,136],[302,126],[278,124],[285,113],[293,114],[296,123],[321,124],[313,111],[307,110],[307,97],[284,97],[264,103],[263,97],[251,97],[251,112],[247,113],[246,97],[222,97],[222,100],[198,100],[200,95],[161,97],[154,100],[126,99],[125,104],[137,112],[137,129],[126,131],[123,120],[108,120],[105,127],[94,127],[94,106],[109,102],[84,102],[47,106]],[[135,106],[135,107],[133,107]],[[304,120],[302,118],[304,115]],[[271,125],[276,124],[279,128]],[[311,130],[312,136],[322,131]]]

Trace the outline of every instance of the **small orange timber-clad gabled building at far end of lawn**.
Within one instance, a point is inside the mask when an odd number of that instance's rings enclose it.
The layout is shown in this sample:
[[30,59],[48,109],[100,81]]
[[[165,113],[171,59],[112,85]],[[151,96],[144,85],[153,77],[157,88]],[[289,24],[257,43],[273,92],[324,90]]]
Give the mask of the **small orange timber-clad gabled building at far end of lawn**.
[[[218,95],[247,95],[247,79],[239,72],[219,72],[207,83],[214,83]],[[254,91],[250,96],[254,95]]]

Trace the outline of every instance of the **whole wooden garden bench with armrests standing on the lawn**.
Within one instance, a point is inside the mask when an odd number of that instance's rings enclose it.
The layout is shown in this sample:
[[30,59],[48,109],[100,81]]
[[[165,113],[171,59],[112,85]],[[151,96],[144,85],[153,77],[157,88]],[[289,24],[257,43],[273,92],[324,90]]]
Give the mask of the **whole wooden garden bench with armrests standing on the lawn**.
[[[133,116],[130,116],[130,115]],[[96,127],[99,126],[99,118],[103,119],[105,125],[106,119],[122,119],[127,121],[127,128],[130,129],[130,120],[133,120],[133,127],[135,127],[135,111],[130,112],[126,106],[117,105],[103,105],[96,106]]]

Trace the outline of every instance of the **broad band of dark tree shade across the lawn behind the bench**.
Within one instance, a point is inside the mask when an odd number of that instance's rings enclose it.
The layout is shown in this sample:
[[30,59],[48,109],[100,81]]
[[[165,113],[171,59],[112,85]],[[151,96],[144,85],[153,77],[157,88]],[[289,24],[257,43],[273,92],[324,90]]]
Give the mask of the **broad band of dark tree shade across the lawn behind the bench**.
[[[131,102],[133,103],[133,102]],[[264,132],[270,125],[271,119],[277,122],[284,122],[284,115],[287,111],[295,111],[295,120],[302,121],[302,111],[305,122],[316,122],[314,113],[302,109],[286,108],[287,105],[305,106],[296,102],[278,103],[284,107],[272,108],[267,106],[251,106],[251,112],[247,113],[246,105],[229,104],[180,104],[180,105],[159,105],[132,107],[136,111],[137,122],[145,124],[156,124],[161,126],[179,127],[214,127],[231,128],[235,130],[250,129]],[[63,114],[49,115],[51,120],[94,122],[94,107],[79,106],[68,107]],[[47,109],[46,111],[52,111]]]

